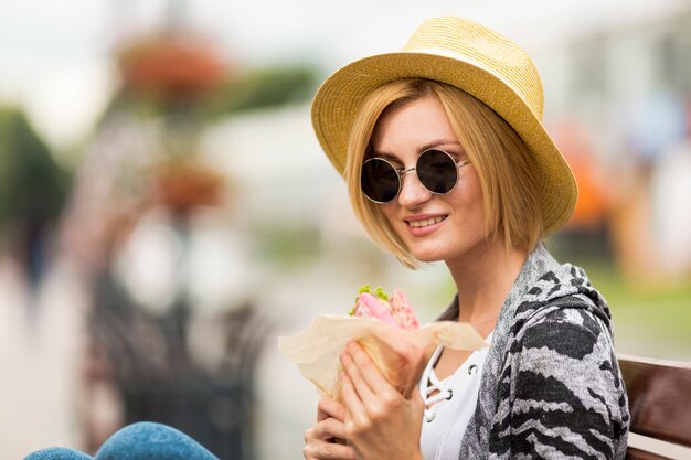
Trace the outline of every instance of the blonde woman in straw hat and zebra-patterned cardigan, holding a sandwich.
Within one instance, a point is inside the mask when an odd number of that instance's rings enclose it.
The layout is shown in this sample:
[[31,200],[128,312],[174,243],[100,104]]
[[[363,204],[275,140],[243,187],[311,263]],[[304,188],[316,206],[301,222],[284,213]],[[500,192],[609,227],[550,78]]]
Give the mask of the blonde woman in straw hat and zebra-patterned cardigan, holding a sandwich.
[[401,394],[349,344],[342,404],[319,402],[306,459],[624,458],[609,310],[541,243],[577,193],[541,125],[542,96],[523,50],[451,17],[317,93],[313,126],[355,215],[406,266],[444,260],[457,296],[440,318],[491,346],[426,356],[392,343],[419,379]]

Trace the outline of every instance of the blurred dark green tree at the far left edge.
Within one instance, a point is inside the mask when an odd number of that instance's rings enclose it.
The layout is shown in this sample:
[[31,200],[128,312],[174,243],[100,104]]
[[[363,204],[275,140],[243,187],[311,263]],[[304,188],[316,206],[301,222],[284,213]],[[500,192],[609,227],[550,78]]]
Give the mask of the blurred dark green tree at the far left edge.
[[55,220],[70,190],[24,114],[0,108],[0,229],[10,222],[42,225]]

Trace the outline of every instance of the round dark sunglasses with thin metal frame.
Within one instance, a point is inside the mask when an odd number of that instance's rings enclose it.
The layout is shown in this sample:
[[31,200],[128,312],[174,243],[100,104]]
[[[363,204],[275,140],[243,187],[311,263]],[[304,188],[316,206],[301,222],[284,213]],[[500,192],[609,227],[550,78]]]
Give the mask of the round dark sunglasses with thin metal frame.
[[403,186],[403,176],[415,171],[419,182],[432,193],[444,194],[454,190],[458,182],[458,169],[470,160],[456,161],[439,149],[425,150],[413,168],[396,168],[383,158],[370,158],[362,163],[360,186],[362,193],[374,203],[387,203],[395,199]]

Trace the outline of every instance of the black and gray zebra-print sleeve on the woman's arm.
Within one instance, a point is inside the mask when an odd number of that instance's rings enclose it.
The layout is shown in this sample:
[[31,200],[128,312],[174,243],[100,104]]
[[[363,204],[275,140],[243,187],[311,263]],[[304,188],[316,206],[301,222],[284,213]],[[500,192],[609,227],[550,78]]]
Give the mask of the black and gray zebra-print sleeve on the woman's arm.
[[626,396],[602,322],[586,309],[552,311],[515,345],[511,458],[619,458]]

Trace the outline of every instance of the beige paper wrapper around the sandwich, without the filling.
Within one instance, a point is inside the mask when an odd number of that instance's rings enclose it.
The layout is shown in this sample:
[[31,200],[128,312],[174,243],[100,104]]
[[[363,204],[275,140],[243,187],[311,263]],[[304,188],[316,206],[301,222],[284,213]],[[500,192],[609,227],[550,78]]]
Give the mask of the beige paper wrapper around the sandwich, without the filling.
[[[389,382],[398,387],[400,366],[396,366],[391,350],[378,339],[386,329],[394,327],[372,318],[320,314],[304,332],[278,338],[278,349],[297,364],[300,374],[317,386],[320,395],[340,399],[339,355],[351,340],[357,341]],[[468,351],[487,346],[470,324],[456,321],[438,321],[414,331],[397,331],[403,340],[410,340],[429,353],[437,344]]]

